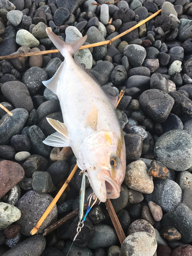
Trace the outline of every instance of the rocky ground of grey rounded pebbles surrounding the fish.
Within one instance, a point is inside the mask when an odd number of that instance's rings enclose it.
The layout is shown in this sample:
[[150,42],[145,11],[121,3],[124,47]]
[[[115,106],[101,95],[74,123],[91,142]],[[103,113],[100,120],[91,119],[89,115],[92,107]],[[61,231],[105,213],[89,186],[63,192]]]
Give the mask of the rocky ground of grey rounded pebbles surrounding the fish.
[[[105,2],[1,0],[0,56],[56,49],[47,26],[66,42],[87,34],[86,44],[93,44],[162,10],[111,45],[74,55],[104,91],[112,96],[125,91],[117,115],[126,144],[126,175],[120,198],[112,203],[126,239],[121,246],[101,203],[91,210],[69,256],[190,256],[191,0]],[[70,148],[59,154],[59,148],[42,143],[54,132],[46,117],[62,121],[58,98],[42,81],[62,61],[60,53],[0,61],[0,101],[13,114],[0,109],[0,255],[66,256],[76,233],[75,218],[42,236],[77,208],[79,169],[38,236],[30,235],[76,163]],[[54,161],[56,155],[60,161]],[[87,180],[86,199],[91,193]]]

